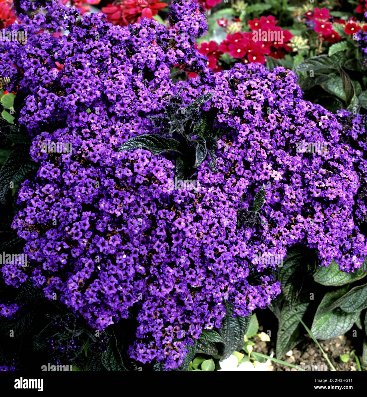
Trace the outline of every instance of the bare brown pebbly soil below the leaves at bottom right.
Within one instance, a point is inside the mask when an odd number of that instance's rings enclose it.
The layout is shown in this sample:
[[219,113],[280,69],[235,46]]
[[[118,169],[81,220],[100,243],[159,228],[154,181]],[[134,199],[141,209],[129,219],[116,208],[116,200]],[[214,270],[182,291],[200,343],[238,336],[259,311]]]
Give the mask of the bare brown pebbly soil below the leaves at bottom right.
[[[262,327],[260,326],[260,330],[261,328]],[[254,339],[254,342],[255,345],[253,347],[253,351],[263,353],[268,356],[274,352],[274,346],[271,342],[263,342],[258,337]],[[320,341],[320,345],[337,371],[349,372],[358,370],[357,364],[354,360],[349,360],[348,362],[342,362],[342,360],[340,360],[340,356],[343,354],[350,354],[354,349],[352,341],[350,341],[346,335],[328,339],[327,341]],[[323,357],[321,350],[311,338],[299,343],[294,349],[287,352],[282,360],[289,362],[290,364],[299,365],[306,371],[331,370],[330,365],[326,361],[325,357]],[[320,368],[318,366],[320,366]],[[293,372],[297,371],[297,369],[288,367],[284,364],[272,362],[270,371]]]

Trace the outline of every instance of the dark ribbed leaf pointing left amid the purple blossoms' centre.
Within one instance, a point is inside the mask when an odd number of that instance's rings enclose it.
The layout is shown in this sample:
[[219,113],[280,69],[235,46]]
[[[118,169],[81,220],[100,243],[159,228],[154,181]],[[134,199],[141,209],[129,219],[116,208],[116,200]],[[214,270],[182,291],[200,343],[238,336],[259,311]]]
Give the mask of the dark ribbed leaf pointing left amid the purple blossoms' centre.
[[139,147],[147,148],[156,156],[170,150],[182,154],[182,152],[180,152],[182,148],[179,141],[173,138],[161,137],[156,134],[142,134],[138,135],[137,137],[133,137],[126,141],[124,145],[118,149],[118,152],[122,152],[123,150],[134,150]]

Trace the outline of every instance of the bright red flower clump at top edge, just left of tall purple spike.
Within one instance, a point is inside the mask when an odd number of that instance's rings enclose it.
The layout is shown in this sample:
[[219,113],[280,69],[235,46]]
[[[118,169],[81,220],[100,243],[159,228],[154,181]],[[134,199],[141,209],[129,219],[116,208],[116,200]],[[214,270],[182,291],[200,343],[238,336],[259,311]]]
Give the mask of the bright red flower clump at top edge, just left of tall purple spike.
[[139,22],[142,18],[152,19],[158,10],[167,6],[159,0],[123,0],[115,5],[108,4],[102,7],[102,12],[107,15],[108,21],[114,25],[126,26],[129,23]]

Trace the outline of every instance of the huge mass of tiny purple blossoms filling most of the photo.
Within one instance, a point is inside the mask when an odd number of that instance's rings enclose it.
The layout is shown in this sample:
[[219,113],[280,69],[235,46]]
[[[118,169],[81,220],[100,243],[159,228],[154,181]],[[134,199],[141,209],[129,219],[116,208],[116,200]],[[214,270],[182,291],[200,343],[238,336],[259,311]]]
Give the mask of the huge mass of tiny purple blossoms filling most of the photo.
[[[7,88],[26,95],[18,121],[40,166],[19,190],[13,223],[30,266],[5,265],[6,283],[30,278],[99,330],[137,309],[129,354],[166,368],[180,366],[204,329],[220,328],[225,302],[247,316],[280,293],[268,275],[274,264],[259,255],[285,258],[287,247],[303,243],[321,265],[335,258],[350,272],[367,254],[352,208],[366,164],[343,141],[348,115],[304,101],[282,67],[237,64],[213,75],[194,46],[206,28],[198,7],[174,2],[168,29],[70,13],[68,35],[29,35],[26,45],[6,42],[0,53]],[[68,10],[58,6],[57,15]],[[178,64],[203,70],[175,83],[169,74]],[[131,137],[157,132],[147,116],[160,114],[180,88],[186,104],[214,93],[203,111],[217,110],[222,134],[218,172],[205,160],[195,189],[172,187],[170,154],[116,152]],[[362,128],[347,133],[358,140]],[[44,152],[47,141],[72,151]],[[299,152],[302,142],[327,150]],[[249,210],[263,183],[265,224],[238,225],[238,209]]]

